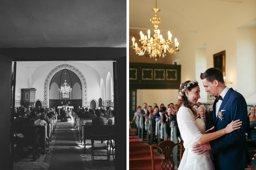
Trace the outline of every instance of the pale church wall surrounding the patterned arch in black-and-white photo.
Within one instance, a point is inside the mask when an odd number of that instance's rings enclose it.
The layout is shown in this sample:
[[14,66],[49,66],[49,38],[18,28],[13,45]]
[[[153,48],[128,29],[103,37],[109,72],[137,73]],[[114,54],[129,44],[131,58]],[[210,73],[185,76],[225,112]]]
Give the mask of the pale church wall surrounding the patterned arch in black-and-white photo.
[[[106,65],[94,64],[93,66],[89,66],[86,63],[93,64],[92,61],[82,61],[82,62],[72,62],[68,61],[67,64],[70,64],[76,68],[78,68],[81,73],[84,75],[86,83],[87,83],[87,101],[95,99],[98,101],[99,98],[102,98],[100,91],[100,79],[101,76],[106,79],[108,71],[113,74],[113,62],[105,61]],[[64,61],[60,62],[17,62],[17,83],[16,83],[16,93],[21,93],[21,88],[36,88],[36,100],[39,99],[41,101],[44,100],[44,82],[46,76],[51,72],[53,68],[56,66],[63,64]],[[97,63],[97,62],[96,62]],[[36,66],[33,66],[36,65]],[[30,67],[39,67],[39,68],[30,68]],[[96,68],[96,69],[94,69]],[[97,68],[105,68],[98,69]],[[99,75],[99,72],[101,75]],[[80,90],[81,92],[81,90]],[[77,93],[77,92],[76,92]],[[51,95],[51,94],[50,94]],[[54,97],[56,98],[56,97]],[[73,98],[78,99],[79,97],[75,97],[73,93]],[[16,100],[21,100],[21,94],[19,98]]]

